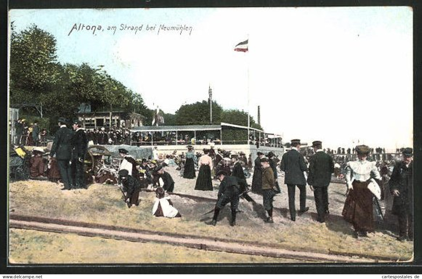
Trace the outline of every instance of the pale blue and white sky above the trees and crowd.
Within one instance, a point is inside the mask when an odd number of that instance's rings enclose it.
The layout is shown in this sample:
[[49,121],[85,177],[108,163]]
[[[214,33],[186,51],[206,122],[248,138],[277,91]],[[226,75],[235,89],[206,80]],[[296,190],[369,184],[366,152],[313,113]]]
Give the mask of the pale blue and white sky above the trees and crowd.
[[[263,129],[285,142],[387,149],[413,145],[412,17],[409,7],[9,13],[17,31],[33,23],[54,35],[60,63],[104,65],[151,109],[174,113],[207,100],[211,85],[225,109],[249,109],[257,121],[260,105]],[[158,32],[162,24],[187,30]],[[234,51],[246,39],[249,51]]]

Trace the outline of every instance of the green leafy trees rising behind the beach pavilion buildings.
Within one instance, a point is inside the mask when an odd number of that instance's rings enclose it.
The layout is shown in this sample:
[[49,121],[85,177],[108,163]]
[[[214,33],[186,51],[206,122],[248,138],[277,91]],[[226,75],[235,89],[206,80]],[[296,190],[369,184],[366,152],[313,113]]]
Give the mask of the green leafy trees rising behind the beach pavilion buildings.
[[[10,104],[42,104],[43,116],[55,123],[57,118],[76,118],[81,103],[91,111],[121,110],[143,115],[144,125],[151,125],[154,109],[146,107],[141,94],[113,78],[102,65],[70,64],[57,60],[57,41],[35,24],[16,32],[11,26]],[[21,113],[30,113],[25,108]],[[209,101],[182,105],[175,114],[160,111],[164,125],[210,124]],[[225,110],[212,102],[213,123],[247,126],[247,113]],[[252,127],[261,129],[250,118]],[[50,129],[53,127],[49,127]],[[54,129],[54,128],[53,128]]]

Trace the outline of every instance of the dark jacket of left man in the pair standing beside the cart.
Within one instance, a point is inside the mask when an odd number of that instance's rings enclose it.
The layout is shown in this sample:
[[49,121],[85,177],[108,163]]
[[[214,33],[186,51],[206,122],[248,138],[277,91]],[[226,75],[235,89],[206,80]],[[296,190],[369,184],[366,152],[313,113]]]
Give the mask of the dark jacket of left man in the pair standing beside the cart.
[[70,160],[72,158],[73,131],[67,127],[60,127],[56,132],[51,147],[50,156],[56,155],[57,160]]

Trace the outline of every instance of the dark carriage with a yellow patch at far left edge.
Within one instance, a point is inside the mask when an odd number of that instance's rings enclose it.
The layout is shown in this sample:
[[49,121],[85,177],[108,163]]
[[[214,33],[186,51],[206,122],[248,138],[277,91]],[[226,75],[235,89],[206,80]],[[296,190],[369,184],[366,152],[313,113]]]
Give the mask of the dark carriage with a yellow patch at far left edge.
[[9,156],[9,177],[14,180],[28,180],[31,154],[23,146],[12,148]]

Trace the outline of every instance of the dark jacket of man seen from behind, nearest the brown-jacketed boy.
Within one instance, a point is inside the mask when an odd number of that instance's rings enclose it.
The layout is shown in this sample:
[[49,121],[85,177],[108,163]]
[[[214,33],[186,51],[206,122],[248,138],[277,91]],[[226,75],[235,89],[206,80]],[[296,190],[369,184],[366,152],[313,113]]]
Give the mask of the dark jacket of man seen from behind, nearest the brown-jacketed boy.
[[280,169],[284,172],[284,184],[306,185],[303,172],[307,171],[307,167],[298,150],[292,149],[283,154]]

